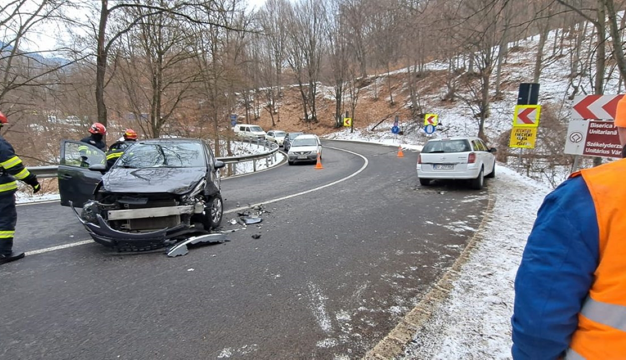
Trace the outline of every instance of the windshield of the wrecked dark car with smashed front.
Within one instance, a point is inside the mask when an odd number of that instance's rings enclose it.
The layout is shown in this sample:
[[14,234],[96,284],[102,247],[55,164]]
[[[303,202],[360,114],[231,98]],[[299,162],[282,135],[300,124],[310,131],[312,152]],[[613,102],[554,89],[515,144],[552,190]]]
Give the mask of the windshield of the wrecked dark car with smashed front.
[[135,144],[115,163],[115,168],[202,168],[206,166],[202,144]]

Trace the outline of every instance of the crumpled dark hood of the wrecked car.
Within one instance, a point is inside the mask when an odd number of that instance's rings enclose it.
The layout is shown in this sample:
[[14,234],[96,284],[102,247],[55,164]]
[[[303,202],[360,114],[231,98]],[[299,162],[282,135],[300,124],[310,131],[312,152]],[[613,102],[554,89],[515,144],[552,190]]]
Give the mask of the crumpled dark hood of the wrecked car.
[[182,195],[192,191],[207,173],[205,168],[113,168],[103,176],[103,186],[111,192],[169,192]]

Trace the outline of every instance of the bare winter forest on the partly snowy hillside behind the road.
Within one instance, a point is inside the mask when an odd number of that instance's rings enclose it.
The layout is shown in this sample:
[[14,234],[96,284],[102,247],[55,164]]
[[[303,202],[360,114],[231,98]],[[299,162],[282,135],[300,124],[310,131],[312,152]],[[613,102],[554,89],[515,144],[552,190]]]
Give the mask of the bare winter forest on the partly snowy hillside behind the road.
[[[438,106],[458,112],[449,116],[463,117],[466,132],[508,148],[507,129],[493,124],[510,116],[494,105],[520,83],[540,83],[541,146],[505,149],[499,160],[552,174],[545,169],[572,164],[562,145],[573,96],[625,91],[625,6],[623,0],[267,0],[252,9],[239,0],[3,2],[0,111],[11,121],[3,136],[33,166],[54,163],[59,140],[84,136],[96,121],[114,138],[132,127],[143,138],[229,139],[230,114],[265,129],[327,135],[346,113],[355,126],[373,129],[399,115],[408,131],[418,129]],[[566,88],[547,91],[545,69],[557,63],[567,68]]]

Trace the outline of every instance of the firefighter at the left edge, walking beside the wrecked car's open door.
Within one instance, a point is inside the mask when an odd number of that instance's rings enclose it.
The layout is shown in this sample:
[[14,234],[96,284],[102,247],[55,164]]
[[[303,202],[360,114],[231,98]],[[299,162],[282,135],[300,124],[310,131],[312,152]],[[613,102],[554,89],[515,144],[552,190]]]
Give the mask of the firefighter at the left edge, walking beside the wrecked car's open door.
[[[6,116],[0,113],[0,128],[8,122]],[[13,251],[13,236],[18,221],[18,212],[15,209],[18,184],[15,179],[32,186],[33,193],[41,190],[37,177],[24,168],[13,146],[0,136],[0,264],[24,257],[24,252]]]

